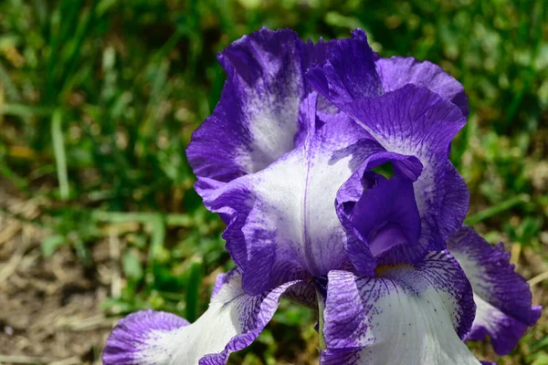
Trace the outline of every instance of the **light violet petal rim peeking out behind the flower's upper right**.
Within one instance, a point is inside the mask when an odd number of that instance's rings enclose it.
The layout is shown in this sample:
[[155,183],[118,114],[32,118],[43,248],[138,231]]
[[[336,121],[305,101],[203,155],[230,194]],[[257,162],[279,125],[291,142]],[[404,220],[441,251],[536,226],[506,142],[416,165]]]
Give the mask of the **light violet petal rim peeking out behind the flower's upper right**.
[[469,114],[468,98],[463,86],[437,65],[413,57],[378,58],[374,61],[385,92],[413,84],[437,93]]

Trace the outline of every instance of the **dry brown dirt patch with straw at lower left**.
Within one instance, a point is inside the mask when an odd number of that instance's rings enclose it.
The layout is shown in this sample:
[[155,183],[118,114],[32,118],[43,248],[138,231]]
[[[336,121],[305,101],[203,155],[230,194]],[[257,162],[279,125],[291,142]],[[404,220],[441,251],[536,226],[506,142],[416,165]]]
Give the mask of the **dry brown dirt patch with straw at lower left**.
[[[34,215],[25,204],[18,210]],[[109,279],[68,246],[44,259],[42,236],[32,224],[0,217],[0,363],[100,363],[115,323],[100,309]],[[102,248],[93,250],[99,265],[108,260]]]

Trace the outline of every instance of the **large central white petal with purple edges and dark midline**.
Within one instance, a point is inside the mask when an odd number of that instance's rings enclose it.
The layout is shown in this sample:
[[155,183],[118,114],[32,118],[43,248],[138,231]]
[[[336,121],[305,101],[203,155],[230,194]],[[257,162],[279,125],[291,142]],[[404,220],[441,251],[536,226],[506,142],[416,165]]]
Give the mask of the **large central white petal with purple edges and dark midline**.
[[[294,151],[205,196],[210,210],[231,214],[224,236],[249,293],[325,275],[348,261],[335,197],[367,157],[383,150],[361,140],[362,129],[344,114],[317,115],[316,102],[313,93],[301,105],[303,138]],[[349,148],[358,141],[360,149]]]

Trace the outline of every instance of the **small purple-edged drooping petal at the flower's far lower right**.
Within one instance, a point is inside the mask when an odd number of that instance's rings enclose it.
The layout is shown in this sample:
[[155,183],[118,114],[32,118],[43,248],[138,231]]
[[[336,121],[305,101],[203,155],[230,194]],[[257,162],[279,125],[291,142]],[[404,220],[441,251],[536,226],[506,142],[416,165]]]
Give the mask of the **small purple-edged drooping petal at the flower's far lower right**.
[[529,284],[514,271],[502,245],[490,245],[469,226],[449,237],[448,250],[468,276],[478,306],[467,339],[489,335],[499,355],[510,353],[541,316],[541,307],[532,307]]

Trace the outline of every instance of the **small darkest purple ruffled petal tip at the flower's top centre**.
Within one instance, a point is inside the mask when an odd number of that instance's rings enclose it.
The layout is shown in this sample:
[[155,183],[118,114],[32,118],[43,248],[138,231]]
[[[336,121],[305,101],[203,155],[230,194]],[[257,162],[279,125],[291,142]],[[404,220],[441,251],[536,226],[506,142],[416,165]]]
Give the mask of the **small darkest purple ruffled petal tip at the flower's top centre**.
[[367,36],[362,29],[354,30],[352,36],[334,43],[328,60],[307,72],[312,87],[337,106],[383,93]]

